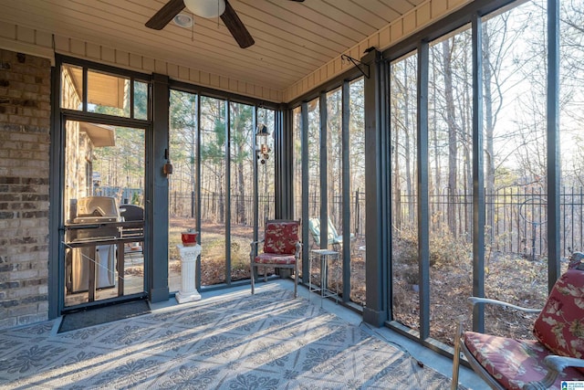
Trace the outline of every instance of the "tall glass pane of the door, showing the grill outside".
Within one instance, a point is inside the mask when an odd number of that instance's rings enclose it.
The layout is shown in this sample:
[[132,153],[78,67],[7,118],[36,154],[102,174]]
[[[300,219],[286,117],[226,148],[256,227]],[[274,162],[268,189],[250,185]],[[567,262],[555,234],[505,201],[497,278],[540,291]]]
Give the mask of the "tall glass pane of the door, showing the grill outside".
[[64,307],[145,294],[144,129],[65,122]]

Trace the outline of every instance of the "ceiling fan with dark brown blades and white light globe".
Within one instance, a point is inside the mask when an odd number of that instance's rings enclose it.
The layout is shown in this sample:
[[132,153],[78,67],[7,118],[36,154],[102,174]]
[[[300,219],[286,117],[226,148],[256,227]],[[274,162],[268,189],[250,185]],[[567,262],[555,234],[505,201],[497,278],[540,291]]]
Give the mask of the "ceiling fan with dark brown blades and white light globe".
[[[302,3],[304,0],[290,0]],[[162,8],[146,22],[146,26],[155,30],[162,30],[164,26],[177,16],[184,8],[187,8],[196,16],[217,17],[221,16],[235,41],[241,48],[252,46],[255,41],[249,34],[244,23],[235,13],[235,9],[227,0],[169,0]]]

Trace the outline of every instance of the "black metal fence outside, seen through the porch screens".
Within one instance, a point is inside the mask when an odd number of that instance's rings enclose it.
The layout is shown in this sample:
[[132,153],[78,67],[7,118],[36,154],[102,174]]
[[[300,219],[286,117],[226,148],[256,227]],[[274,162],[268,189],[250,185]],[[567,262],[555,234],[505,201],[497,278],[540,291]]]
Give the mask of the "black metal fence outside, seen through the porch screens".
[[[99,187],[99,195],[118,196],[120,202],[129,201],[140,189],[123,187]],[[560,227],[562,256],[574,250],[584,249],[584,188],[562,188],[560,198]],[[201,195],[203,220],[224,223],[225,197],[217,193]],[[231,224],[253,224],[254,197],[232,196]],[[356,236],[365,234],[365,193],[356,191],[350,199],[350,232]],[[395,195],[392,202],[392,223],[397,231],[404,228],[415,230],[417,198],[415,195]],[[298,204],[300,204],[298,202]],[[308,198],[308,210],[319,213],[319,197]],[[342,196],[334,195],[328,200],[329,216],[339,232],[342,226]],[[429,195],[431,220],[430,231],[443,232],[445,228],[458,239],[470,241],[473,237],[473,196],[464,192],[451,194],[447,189],[432,191]],[[171,216],[193,217],[194,194],[172,191],[169,197]],[[259,220],[275,216],[275,200],[272,195],[258,197]],[[399,217],[398,217],[399,216]],[[449,217],[450,216],[450,217]],[[454,217],[453,217],[454,216]],[[310,216],[312,217],[312,216]],[[454,222],[453,222],[454,221]],[[396,226],[396,224],[398,226]],[[543,188],[526,186],[504,188],[494,194],[485,194],[485,243],[492,249],[525,256],[547,254],[547,194]]]

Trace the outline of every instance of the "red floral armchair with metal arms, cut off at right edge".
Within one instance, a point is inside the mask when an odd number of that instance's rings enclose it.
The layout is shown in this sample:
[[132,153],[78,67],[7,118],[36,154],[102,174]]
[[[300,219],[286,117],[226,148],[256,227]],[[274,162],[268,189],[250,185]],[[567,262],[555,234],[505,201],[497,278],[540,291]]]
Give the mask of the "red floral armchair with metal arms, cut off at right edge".
[[472,305],[491,303],[539,312],[533,328],[535,340],[460,329],[454,341],[453,389],[458,384],[461,350],[473,370],[494,389],[561,389],[563,381],[584,381],[584,263],[571,262],[570,266],[556,281],[541,311],[469,298]]

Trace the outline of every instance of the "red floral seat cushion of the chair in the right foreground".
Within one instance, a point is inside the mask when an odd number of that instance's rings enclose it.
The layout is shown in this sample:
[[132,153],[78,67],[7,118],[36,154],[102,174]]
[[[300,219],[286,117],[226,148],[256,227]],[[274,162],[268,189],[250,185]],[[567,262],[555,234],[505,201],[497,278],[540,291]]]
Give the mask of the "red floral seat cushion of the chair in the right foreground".
[[[464,332],[464,345],[485,370],[508,389],[521,389],[539,381],[547,373],[544,358],[550,354],[536,340],[514,340],[490,334]],[[568,367],[551,388],[560,389],[562,380],[583,380],[584,375]]]

